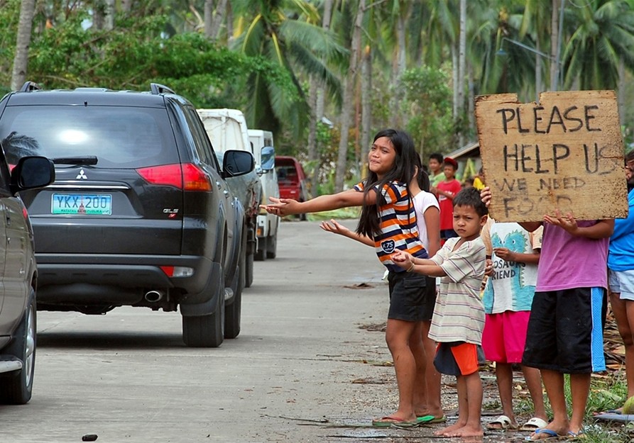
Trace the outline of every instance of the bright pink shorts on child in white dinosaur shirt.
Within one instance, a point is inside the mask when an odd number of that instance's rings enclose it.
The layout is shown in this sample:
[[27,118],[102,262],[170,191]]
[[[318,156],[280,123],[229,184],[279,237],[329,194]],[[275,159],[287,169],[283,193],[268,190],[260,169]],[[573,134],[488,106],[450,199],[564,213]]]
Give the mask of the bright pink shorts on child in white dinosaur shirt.
[[482,349],[488,361],[521,363],[526,342],[530,310],[486,314]]

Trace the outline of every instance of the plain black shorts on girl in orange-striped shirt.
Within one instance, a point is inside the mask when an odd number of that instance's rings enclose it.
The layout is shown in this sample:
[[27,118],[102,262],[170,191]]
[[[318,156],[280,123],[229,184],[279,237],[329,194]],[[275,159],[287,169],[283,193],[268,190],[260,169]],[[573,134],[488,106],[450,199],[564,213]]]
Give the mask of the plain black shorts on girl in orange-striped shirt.
[[416,272],[390,272],[390,310],[391,320],[422,322],[431,320],[434,313],[434,297],[427,295],[427,277]]

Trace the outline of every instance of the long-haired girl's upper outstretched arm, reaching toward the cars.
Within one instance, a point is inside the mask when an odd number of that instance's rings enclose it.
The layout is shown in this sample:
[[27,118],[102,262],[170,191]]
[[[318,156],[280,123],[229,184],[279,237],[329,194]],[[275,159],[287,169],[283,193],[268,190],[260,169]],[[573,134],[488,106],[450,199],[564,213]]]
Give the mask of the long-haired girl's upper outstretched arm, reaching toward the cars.
[[354,189],[342,191],[337,194],[328,194],[311,198],[308,201],[296,201],[291,198],[269,197],[273,203],[261,205],[268,213],[275,215],[290,215],[313,213],[321,211],[332,211],[333,209],[347,208],[349,206],[362,206],[364,204],[376,204],[376,191],[371,189],[368,194]]

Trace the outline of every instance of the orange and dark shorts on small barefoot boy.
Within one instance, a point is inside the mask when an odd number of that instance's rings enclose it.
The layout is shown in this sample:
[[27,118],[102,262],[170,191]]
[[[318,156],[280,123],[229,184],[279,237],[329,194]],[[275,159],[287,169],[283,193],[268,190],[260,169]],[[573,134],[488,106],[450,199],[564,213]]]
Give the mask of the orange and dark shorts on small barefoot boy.
[[440,374],[468,376],[477,372],[483,363],[484,353],[478,344],[448,342],[436,347],[434,366]]

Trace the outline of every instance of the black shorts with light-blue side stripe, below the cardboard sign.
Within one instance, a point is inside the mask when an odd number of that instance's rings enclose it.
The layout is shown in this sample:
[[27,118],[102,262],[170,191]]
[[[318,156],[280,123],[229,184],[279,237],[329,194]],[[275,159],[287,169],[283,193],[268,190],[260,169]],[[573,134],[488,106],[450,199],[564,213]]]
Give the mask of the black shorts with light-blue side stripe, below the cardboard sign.
[[562,374],[606,370],[603,288],[535,292],[522,363]]

